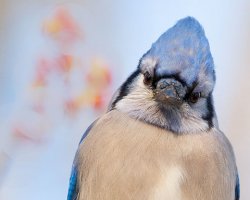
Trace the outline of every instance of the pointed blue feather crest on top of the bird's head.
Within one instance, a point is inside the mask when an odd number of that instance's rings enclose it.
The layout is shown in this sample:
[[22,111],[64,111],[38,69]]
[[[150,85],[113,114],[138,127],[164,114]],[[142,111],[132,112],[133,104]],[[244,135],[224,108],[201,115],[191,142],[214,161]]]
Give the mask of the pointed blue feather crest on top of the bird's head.
[[157,60],[156,75],[179,74],[188,85],[199,73],[213,76],[214,63],[202,26],[192,17],[184,18],[152,45],[146,57]]

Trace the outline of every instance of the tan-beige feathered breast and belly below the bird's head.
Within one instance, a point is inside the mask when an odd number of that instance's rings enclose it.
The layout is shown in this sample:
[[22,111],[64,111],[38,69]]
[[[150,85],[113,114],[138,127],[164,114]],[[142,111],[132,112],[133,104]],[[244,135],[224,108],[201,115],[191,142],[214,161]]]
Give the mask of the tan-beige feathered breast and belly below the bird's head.
[[176,136],[114,110],[81,143],[78,163],[78,200],[235,198],[234,154],[216,129]]

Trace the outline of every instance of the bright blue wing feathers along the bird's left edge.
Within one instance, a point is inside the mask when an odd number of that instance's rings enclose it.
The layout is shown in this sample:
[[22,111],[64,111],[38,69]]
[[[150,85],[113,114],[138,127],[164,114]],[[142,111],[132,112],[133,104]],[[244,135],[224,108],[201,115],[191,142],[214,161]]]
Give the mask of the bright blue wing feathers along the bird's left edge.
[[[96,120],[97,121],[97,120]],[[96,121],[94,121],[85,131],[83,134],[79,145],[82,143],[82,141],[86,138],[92,127],[95,125]],[[76,156],[77,157],[77,153]],[[68,197],[67,200],[76,200],[77,194],[78,194],[78,188],[77,188],[77,164],[76,164],[76,158],[73,162],[72,170],[71,170],[71,175],[70,175],[70,180],[69,180],[69,189],[68,189]]]

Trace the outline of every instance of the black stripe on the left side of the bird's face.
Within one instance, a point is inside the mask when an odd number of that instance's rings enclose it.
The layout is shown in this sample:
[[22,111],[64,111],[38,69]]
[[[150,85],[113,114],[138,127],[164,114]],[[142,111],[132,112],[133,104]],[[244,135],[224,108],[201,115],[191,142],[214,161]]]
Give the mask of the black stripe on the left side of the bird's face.
[[114,109],[116,106],[117,102],[120,101],[123,97],[127,96],[129,94],[129,86],[133,83],[134,79],[140,74],[140,70],[137,69],[134,71],[128,79],[125,81],[125,83],[122,84],[120,92],[114,102],[111,105],[111,110]]

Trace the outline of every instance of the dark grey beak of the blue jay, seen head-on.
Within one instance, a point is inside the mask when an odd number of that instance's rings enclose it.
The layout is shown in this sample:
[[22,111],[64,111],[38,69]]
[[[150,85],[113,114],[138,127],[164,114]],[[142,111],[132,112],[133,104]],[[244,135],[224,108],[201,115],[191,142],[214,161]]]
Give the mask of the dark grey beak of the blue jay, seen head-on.
[[173,78],[163,78],[157,82],[155,99],[164,104],[181,104],[186,94],[186,87]]

